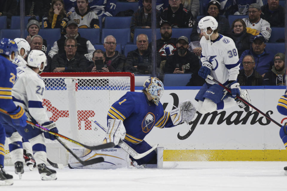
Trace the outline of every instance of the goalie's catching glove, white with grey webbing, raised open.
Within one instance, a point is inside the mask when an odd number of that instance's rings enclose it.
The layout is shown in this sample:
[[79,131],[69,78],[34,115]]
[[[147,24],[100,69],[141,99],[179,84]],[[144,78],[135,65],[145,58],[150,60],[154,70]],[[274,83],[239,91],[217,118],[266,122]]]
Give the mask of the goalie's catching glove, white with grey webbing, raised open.
[[174,125],[193,120],[196,109],[190,100],[185,100],[179,104],[179,107],[170,111],[170,117]]

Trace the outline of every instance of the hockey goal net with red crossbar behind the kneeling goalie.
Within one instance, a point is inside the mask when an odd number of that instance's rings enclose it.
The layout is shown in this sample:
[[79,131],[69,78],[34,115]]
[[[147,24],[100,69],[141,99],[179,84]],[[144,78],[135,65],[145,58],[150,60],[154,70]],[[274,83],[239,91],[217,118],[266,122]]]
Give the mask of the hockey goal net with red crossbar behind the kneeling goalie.
[[[91,119],[106,127],[112,104],[135,90],[134,75],[125,72],[42,73],[41,77],[46,86],[43,106],[50,120],[56,122],[60,134],[88,145],[101,144],[104,135]],[[9,153],[7,148],[6,142],[5,153]]]

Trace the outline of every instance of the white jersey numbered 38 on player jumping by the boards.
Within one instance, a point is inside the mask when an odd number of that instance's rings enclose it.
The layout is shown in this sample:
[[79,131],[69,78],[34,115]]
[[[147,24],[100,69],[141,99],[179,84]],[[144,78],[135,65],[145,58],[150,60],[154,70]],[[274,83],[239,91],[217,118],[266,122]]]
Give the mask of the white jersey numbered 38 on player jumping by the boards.
[[[215,40],[200,40],[202,48],[201,62],[210,62],[212,70],[210,76],[222,84],[227,84],[230,80],[237,80],[239,74],[239,58],[234,41],[219,34]],[[212,80],[206,79],[207,83],[214,84]]]

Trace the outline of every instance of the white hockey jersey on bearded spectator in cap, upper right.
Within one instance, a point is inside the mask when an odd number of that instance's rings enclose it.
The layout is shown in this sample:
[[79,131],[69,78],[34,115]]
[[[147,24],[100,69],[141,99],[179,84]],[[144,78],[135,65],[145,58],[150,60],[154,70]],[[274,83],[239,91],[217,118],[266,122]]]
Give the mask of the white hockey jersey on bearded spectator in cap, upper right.
[[264,36],[265,40],[268,41],[271,36],[271,28],[270,23],[264,19],[261,19],[257,23],[251,23],[248,18],[242,19],[246,27],[259,30],[261,34]]

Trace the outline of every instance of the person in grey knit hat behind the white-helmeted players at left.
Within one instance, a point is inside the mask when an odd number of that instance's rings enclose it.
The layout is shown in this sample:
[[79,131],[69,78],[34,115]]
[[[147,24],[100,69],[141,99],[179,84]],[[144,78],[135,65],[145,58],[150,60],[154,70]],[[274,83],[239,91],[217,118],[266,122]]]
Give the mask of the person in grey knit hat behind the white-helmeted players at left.
[[[31,43],[31,38],[34,35],[37,35],[39,33],[40,30],[40,24],[39,21],[36,19],[36,17],[31,17],[28,20],[28,24],[27,24],[27,31],[28,31],[28,36],[26,37],[26,40],[28,41],[28,43]],[[42,45],[42,51],[43,52],[47,52],[47,41],[46,39],[43,39],[43,45]]]

